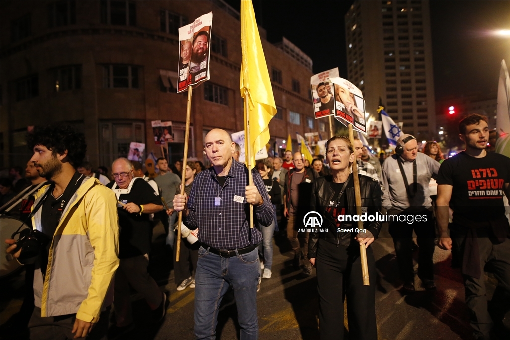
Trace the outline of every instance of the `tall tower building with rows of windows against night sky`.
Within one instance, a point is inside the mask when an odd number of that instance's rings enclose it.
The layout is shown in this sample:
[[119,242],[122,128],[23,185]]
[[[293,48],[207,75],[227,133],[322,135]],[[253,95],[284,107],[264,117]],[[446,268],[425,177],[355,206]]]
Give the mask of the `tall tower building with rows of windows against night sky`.
[[428,1],[356,1],[345,15],[348,79],[377,117],[379,98],[404,133],[435,136]]

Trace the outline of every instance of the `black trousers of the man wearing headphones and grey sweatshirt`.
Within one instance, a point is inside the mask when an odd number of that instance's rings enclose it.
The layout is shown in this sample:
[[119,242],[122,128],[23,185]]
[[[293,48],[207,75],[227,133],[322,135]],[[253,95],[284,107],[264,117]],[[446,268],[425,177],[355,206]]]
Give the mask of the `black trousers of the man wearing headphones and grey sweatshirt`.
[[[411,214],[406,214],[411,215]],[[422,281],[434,279],[434,240],[436,238],[435,221],[430,211],[423,211],[417,215],[426,215],[427,221],[407,223],[390,222],[390,234],[395,244],[400,279],[406,283],[414,283],[413,266],[413,230],[416,232],[419,247],[418,277]]]

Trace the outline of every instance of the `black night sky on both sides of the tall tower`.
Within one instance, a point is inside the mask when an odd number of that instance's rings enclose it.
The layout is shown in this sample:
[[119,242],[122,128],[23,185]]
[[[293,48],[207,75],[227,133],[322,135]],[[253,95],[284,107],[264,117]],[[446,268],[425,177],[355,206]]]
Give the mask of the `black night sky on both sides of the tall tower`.
[[[239,1],[226,3],[239,11]],[[269,42],[285,36],[312,58],[314,73],[338,66],[347,76],[344,15],[353,1],[252,3]],[[501,59],[510,68],[510,38],[489,32],[510,29],[510,2],[431,1],[430,17],[436,99],[496,96]]]

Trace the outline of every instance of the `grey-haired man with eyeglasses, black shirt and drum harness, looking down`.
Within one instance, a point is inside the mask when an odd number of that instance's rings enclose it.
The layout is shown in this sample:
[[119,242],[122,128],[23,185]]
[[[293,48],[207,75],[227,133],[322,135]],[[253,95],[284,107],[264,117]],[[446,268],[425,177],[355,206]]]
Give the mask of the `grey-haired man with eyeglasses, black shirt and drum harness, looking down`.
[[115,325],[108,338],[116,338],[134,328],[130,285],[140,293],[154,311],[154,321],[165,315],[166,295],[148,274],[152,225],[150,214],[163,210],[160,196],[141,177],[135,177],[133,164],[119,158],[112,164],[111,182],[107,187],[117,197],[119,217],[119,268],[115,273]]

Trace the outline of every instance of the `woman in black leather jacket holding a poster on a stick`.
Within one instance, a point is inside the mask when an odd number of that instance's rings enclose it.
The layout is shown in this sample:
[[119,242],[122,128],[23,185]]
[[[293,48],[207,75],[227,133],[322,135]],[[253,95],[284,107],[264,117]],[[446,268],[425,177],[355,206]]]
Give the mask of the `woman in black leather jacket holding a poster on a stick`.
[[[314,181],[310,204],[310,211],[322,216],[322,226],[310,233],[308,245],[308,257],[317,268],[320,338],[343,339],[345,294],[349,338],[376,340],[376,273],[370,244],[381,228],[382,222],[375,218],[381,210],[381,190],[376,180],[359,175],[362,220],[365,215],[366,221],[363,222],[364,231],[358,232],[357,222],[340,221],[348,220],[347,215],[352,217],[356,214],[350,173],[354,154],[350,141],[345,137],[329,139],[326,143],[326,161],[331,175]],[[368,286],[364,286],[362,280],[360,245],[365,245],[367,249]]]

